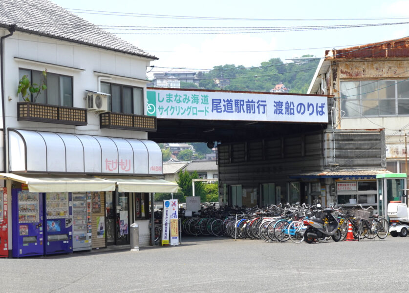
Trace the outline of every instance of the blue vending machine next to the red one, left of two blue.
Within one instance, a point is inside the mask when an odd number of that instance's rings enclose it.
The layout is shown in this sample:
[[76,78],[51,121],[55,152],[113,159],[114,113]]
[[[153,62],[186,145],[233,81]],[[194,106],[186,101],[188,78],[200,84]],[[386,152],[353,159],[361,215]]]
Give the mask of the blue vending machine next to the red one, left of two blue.
[[43,255],[41,193],[12,189],[13,257]]

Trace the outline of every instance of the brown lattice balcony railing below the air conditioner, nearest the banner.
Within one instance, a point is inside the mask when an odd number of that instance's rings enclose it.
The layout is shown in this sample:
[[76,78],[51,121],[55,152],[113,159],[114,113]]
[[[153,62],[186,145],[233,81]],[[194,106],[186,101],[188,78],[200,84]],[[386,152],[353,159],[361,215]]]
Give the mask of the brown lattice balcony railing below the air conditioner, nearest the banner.
[[100,128],[156,131],[156,117],[124,113],[102,113]]

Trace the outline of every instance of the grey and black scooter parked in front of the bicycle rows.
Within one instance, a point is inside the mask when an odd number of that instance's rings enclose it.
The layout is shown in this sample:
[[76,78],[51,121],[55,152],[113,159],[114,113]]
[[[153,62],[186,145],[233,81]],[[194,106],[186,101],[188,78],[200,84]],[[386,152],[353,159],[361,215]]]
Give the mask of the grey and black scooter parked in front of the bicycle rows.
[[[320,209],[321,205],[317,204],[317,208]],[[304,220],[303,224],[304,227],[306,227],[304,232],[305,242],[313,243],[316,239],[324,241],[325,238],[329,236],[331,236],[335,242],[341,240],[341,231],[338,229],[338,218],[331,214],[333,211],[333,209],[317,210],[315,217]]]

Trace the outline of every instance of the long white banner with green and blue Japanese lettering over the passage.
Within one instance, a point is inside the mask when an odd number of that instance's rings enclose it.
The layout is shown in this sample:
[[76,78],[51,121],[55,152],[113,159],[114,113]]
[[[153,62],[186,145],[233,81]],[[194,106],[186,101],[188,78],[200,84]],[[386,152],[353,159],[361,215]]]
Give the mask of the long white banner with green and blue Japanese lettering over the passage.
[[157,118],[328,123],[323,96],[148,89],[147,98]]

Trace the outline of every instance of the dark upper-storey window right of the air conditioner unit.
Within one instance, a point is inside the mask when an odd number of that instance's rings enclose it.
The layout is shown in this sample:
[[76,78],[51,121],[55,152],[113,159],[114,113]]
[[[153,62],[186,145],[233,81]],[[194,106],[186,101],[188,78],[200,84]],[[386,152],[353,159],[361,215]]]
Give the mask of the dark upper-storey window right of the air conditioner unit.
[[114,113],[143,115],[143,89],[121,84],[101,83],[101,91],[108,97],[108,110]]

